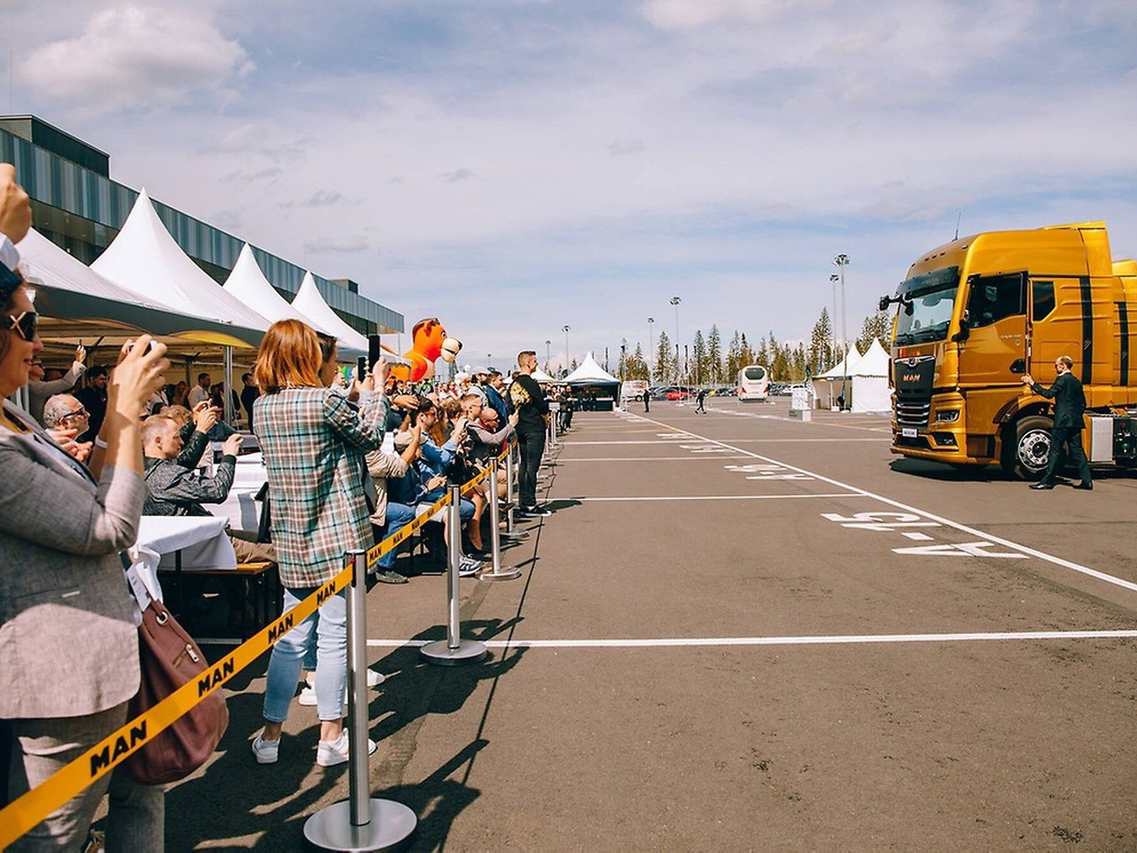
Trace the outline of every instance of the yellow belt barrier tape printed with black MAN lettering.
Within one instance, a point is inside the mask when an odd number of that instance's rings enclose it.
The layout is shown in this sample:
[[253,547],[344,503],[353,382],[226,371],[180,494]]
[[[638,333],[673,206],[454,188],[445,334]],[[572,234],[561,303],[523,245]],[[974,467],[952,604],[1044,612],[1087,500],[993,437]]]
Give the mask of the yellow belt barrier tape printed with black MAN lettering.
[[[508,444],[505,445],[501,456],[507,453],[509,453]],[[462,494],[481,483],[491,471],[492,469],[487,467],[464,483],[460,487]],[[448,490],[426,513],[367,550],[367,568],[370,569],[379,562],[381,556],[397,548],[408,536],[430,521],[439,510],[450,505],[453,496],[454,491]],[[140,746],[152,740],[191,707],[260,657],[285,633],[315,613],[324,602],[346,589],[352,582],[354,572],[355,563],[348,560],[339,574],[288,613],[273,620],[272,624],[266,626],[210,665],[196,680],[182,685],[150,710],[139,714],[133,720],[127,720],[122,728],[105,737],[66,767],[57,770],[41,785],[0,809],[0,850],[8,847],[73,796],[109,773]]]

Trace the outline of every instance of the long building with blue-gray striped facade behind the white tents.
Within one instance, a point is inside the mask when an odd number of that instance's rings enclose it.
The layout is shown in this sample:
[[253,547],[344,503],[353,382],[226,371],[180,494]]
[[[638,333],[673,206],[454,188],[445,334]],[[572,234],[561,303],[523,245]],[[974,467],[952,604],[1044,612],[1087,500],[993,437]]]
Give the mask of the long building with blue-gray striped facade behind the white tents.
[[[32,199],[35,230],[84,264],[110,245],[138,198],[135,190],[110,180],[106,154],[34,116],[0,116],[0,162],[16,167],[16,179]],[[182,250],[224,282],[244,241],[160,201],[153,206]],[[265,278],[291,301],[304,267],[256,247],[252,252]],[[402,332],[402,315],[359,296],[355,282],[313,278],[321,296],[354,329]]]

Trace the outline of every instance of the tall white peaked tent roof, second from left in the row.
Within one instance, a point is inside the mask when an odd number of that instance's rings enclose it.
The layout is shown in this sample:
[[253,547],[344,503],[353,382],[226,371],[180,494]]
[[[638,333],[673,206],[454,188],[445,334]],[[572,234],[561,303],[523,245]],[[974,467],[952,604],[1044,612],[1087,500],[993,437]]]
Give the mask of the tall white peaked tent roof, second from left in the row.
[[226,293],[182,251],[144,189],[118,237],[91,268],[136,298],[231,326],[233,337],[250,346],[268,329],[267,320]]

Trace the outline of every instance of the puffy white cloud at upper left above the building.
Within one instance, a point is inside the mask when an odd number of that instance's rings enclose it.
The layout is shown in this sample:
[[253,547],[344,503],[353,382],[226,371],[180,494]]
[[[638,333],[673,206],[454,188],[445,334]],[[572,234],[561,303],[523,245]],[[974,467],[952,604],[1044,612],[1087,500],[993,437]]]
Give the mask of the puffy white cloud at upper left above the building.
[[227,100],[227,86],[252,67],[200,11],[123,6],[97,13],[77,38],[33,51],[22,77],[40,96],[91,116],[165,107],[202,90]]

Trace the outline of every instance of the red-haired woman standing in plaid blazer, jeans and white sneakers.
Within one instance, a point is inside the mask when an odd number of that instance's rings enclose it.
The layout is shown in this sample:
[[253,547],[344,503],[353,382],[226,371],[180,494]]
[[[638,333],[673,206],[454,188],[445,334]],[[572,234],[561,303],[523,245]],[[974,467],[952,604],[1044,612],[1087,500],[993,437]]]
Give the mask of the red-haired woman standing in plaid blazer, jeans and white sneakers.
[[[333,349],[326,363],[334,362]],[[345,552],[374,544],[364,495],[365,456],[383,440],[387,400],[373,389],[376,383],[383,387],[387,362],[381,359],[362,387],[358,409],[342,390],[324,387],[324,364],[316,332],[299,321],[283,320],[265,333],[254,368],[263,390],[254,404],[254,422],[268,473],[285,610],[339,574]],[[321,605],[318,619],[305,620],[273,646],[265,728],[252,742],[262,764],[277,759],[281,726],[313,641],[321,721],[316,763],[332,767],[347,761],[347,607],[341,591]],[[374,743],[370,746],[374,751]]]

